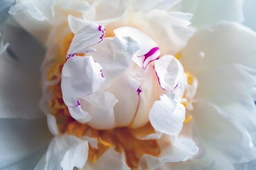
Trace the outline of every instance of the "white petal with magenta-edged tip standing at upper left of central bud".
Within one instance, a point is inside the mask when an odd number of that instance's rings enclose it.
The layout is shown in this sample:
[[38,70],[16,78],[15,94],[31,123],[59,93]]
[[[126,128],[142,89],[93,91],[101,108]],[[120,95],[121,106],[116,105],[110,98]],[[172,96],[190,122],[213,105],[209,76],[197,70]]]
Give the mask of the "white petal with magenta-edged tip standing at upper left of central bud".
[[95,49],[92,49],[90,46],[101,42],[104,35],[104,26],[96,23],[87,24],[75,33],[67,55],[95,52]]

